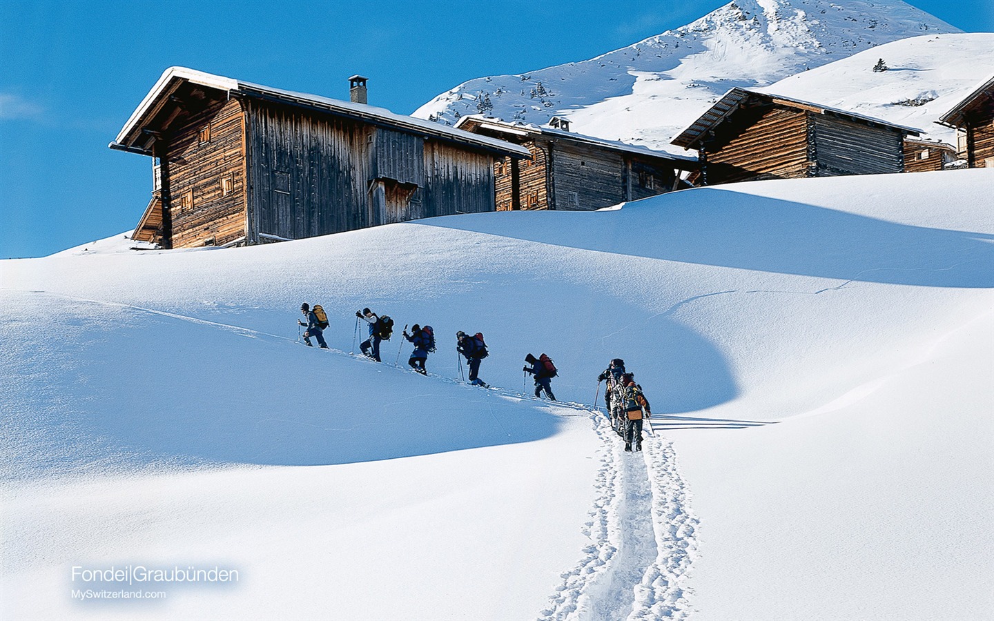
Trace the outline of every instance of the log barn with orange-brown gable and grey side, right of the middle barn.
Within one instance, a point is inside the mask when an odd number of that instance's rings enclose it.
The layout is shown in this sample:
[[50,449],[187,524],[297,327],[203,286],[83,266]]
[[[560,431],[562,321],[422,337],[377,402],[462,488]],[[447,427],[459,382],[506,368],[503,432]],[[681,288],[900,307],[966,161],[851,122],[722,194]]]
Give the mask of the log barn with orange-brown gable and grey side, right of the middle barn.
[[900,173],[918,130],[808,101],[732,88],[673,139],[697,149],[704,185]]

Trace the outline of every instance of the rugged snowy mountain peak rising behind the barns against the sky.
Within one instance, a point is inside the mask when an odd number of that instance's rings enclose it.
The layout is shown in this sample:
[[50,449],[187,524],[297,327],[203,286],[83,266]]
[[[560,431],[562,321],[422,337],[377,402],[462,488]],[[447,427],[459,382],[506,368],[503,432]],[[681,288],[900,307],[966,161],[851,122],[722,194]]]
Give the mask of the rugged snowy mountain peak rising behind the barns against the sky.
[[670,139],[733,86],[754,87],[874,46],[958,29],[901,0],[736,0],[681,28],[597,58],[463,82],[414,116],[485,112],[674,150]]

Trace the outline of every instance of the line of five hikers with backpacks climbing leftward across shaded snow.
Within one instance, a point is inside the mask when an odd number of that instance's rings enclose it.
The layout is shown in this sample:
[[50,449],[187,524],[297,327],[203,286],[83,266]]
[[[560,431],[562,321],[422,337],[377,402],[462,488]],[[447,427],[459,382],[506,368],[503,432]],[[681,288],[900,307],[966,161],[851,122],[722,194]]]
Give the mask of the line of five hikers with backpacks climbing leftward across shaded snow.
[[[302,335],[304,344],[308,347],[313,347],[310,339],[314,337],[319,347],[328,349],[328,344],[325,343],[323,335],[324,330],[328,327],[328,316],[321,305],[315,304],[311,308],[307,302],[304,302],[300,305],[300,312],[307,318],[306,323],[299,319],[297,320],[299,326],[306,327]],[[363,341],[359,345],[359,349],[364,356],[378,363],[382,362],[380,359],[380,343],[389,341],[391,336],[393,336],[394,320],[388,315],[377,315],[369,308],[364,308],[361,311],[356,311],[357,332],[360,320],[366,322],[368,325],[369,339]],[[405,326],[403,335],[408,342],[414,345],[414,351],[411,353],[408,365],[422,376],[427,375],[424,365],[427,362],[428,354],[435,351],[434,331],[431,326],[414,324],[411,328],[411,334],[408,334],[408,327]],[[355,337],[353,339],[353,345],[355,345]],[[487,345],[483,341],[483,333],[477,332],[473,336],[469,336],[460,330],[455,333],[455,339],[456,351],[466,359],[466,366],[469,370],[469,383],[473,386],[487,388],[487,384],[479,378],[480,363],[484,358],[489,356]],[[398,355],[400,355],[400,352]],[[549,399],[555,401],[556,396],[553,394],[552,379],[557,376],[558,371],[552,359],[545,354],[542,354],[538,358],[528,354],[525,356],[525,362],[529,366],[525,367],[522,371],[532,374],[535,379],[535,396],[541,397],[544,391]],[[462,374],[461,359],[459,359],[459,374]]]

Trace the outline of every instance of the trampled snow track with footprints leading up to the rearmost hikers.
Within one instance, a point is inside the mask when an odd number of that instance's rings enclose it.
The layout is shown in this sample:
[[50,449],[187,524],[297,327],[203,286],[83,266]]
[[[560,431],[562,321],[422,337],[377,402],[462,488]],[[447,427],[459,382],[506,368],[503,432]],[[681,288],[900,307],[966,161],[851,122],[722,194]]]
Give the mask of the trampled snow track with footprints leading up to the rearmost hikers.
[[658,435],[644,451],[625,453],[607,419],[591,412],[604,442],[597,499],[584,535],[591,543],[539,618],[683,619],[683,578],[697,549],[697,519],[688,508],[672,445]]

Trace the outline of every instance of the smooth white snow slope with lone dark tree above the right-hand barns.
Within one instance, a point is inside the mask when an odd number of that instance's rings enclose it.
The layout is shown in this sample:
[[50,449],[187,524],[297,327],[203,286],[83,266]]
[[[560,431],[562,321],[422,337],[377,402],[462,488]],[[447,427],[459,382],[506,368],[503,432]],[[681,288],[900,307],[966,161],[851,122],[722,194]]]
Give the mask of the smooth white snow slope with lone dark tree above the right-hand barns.
[[[883,60],[887,71],[874,71]],[[917,127],[956,145],[934,121],[994,72],[994,33],[925,35],[884,44],[760,90]]]

